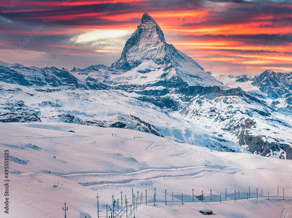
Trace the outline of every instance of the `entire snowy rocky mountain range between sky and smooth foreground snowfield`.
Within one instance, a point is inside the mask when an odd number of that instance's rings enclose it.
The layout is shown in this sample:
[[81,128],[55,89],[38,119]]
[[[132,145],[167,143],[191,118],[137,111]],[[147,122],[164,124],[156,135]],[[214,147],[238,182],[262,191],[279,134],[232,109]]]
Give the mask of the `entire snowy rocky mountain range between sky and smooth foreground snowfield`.
[[212,75],[166,43],[147,13],[110,67],[68,71],[0,61],[0,81],[1,122],[126,128],[292,159],[292,72]]

